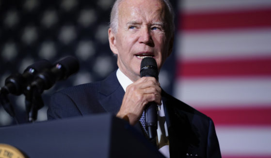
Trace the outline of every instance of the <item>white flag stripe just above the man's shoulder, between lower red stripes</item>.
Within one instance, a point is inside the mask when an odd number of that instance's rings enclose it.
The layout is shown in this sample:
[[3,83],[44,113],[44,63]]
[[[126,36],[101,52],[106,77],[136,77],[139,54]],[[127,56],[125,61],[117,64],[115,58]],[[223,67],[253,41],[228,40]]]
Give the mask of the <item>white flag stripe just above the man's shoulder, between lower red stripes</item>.
[[175,87],[175,97],[193,107],[271,102],[271,77],[179,78]]

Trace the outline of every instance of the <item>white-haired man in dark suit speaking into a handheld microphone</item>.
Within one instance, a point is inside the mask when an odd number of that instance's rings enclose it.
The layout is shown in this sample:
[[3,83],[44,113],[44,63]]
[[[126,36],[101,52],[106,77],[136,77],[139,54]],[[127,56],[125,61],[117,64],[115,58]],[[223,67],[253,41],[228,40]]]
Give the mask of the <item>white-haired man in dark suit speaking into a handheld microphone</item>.
[[159,106],[159,151],[166,157],[221,158],[212,120],[166,94],[154,77],[140,77],[143,57],[162,67],[174,39],[173,10],[168,0],[116,0],[108,30],[119,69],[108,78],[55,93],[48,119],[113,113],[132,126],[148,102]]

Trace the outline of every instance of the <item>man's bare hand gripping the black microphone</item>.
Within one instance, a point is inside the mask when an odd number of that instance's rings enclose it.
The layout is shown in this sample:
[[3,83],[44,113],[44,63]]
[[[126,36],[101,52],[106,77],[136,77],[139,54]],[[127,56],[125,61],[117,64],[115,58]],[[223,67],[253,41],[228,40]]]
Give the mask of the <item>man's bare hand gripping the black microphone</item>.
[[161,105],[161,87],[154,77],[142,77],[126,89],[120,111],[116,115],[135,125],[148,102]]

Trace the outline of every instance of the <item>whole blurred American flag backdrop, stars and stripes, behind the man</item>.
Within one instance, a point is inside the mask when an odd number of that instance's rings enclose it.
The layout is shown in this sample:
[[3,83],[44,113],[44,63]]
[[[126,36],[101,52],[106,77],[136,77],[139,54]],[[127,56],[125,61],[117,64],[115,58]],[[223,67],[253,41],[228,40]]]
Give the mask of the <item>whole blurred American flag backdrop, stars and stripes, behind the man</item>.
[[[72,55],[80,71],[43,94],[104,79],[115,70],[108,43],[114,0],[0,0],[0,86],[39,59]],[[271,0],[171,0],[174,52],[159,81],[210,116],[223,158],[271,158]],[[8,96],[25,123],[24,95]],[[0,126],[14,120],[0,106]]]

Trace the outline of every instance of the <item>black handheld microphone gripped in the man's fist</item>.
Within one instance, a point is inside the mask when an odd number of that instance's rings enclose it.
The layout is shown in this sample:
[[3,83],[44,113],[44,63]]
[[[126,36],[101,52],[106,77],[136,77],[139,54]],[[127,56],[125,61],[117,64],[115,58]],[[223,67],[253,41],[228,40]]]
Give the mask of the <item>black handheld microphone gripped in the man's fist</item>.
[[[140,77],[155,77],[158,80],[157,63],[152,57],[144,57],[140,66]],[[149,102],[145,108],[145,124],[149,138],[153,139],[157,134],[157,104]]]

